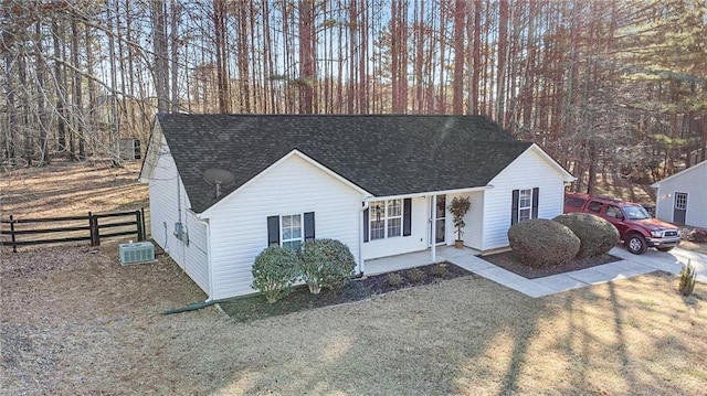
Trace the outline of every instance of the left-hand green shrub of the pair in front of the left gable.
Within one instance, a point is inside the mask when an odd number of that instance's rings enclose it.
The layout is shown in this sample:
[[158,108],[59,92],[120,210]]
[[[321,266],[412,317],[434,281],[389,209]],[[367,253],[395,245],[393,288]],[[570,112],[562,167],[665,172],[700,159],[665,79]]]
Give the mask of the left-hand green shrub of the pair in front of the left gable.
[[270,246],[255,257],[253,283],[268,303],[273,303],[292,291],[299,275],[297,254],[281,246]]

